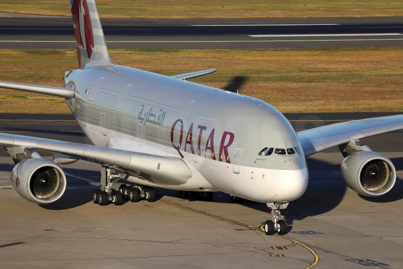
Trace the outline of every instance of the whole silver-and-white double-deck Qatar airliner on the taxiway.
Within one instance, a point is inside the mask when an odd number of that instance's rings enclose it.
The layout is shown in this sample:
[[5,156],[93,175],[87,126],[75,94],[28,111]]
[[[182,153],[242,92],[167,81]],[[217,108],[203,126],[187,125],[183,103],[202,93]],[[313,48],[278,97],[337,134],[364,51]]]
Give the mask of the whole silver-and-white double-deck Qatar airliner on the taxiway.
[[[59,199],[66,177],[58,164],[78,159],[102,164],[94,203],[155,200],[153,187],[178,197],[211,200],[214,191],[267,203],[266,234],[285,233],[280,210],[305,192],[305,158],[339,146],[341,175],[359,194],[387,193],[393,163],[359,139],[403,128],[403,115],[350,121],[295,132],[269,104],[187,81],[206,70],[167,77],[116,65],[109,58],[94,0],[70,0],[79,69],[64,87],[0,82],[0,87],[64,97],[94,145],[0,133],[15,162],[15,190],[36,204]],[[36,150],[54,153],[53,161]],[[126,180],[115,191],[112,184]]]

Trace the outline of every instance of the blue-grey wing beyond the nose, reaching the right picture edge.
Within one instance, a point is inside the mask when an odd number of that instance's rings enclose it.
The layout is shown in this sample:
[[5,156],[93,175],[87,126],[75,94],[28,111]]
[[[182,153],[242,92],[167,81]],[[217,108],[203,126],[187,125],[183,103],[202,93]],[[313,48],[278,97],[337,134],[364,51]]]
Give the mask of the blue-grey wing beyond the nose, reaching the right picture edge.
[[388,131],[403,129],[403,115],[369,118],[330,124],[297,132],[305,156]]

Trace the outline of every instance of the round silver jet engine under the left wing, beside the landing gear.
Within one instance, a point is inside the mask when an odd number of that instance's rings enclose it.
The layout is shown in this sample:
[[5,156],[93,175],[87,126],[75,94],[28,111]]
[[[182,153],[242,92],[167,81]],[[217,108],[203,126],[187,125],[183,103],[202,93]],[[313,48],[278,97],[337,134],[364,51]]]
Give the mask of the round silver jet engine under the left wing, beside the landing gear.
[[63,170],[48,159],[28,158],[14,166],[11,181],[19,195],[35,204],[50,204],[66,189]]

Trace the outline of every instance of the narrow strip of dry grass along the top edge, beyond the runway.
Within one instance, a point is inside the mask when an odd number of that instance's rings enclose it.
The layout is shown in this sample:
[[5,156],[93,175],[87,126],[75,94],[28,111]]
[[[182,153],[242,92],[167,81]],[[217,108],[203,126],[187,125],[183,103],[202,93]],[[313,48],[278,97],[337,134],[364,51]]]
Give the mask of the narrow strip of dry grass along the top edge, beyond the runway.
[[[301,18],[403,16],[397,0],[97,0],[102,18]],[[1,12],[71,16],[67,0],[0,0]]]

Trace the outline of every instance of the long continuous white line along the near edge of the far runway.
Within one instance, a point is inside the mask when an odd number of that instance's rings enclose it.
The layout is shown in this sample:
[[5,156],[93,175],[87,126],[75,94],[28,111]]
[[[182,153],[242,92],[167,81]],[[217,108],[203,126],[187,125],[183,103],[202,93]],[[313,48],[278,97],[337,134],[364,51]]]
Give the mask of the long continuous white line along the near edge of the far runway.
[[[189,40],[189,41],[106,41],[106,43],[242,43],[242,42],[318,42],[318,41],[387,41],[395,39],[318,39],[318,40]],[[0,40],[0,43],[75,43],[76,41],[50,41],[50,40]]]

